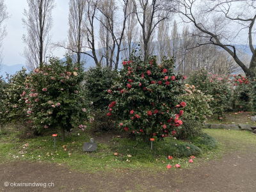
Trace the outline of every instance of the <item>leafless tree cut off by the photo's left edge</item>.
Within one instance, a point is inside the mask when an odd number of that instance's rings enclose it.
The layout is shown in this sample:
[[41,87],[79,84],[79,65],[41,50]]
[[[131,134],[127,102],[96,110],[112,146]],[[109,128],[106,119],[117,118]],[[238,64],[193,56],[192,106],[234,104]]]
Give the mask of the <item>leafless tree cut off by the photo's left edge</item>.
[[3,64],[3,39],[7,35],[6,26],[3,26],[4,20],[8,19],[9,15],[6,12],[6,5],[4,0],[0,0],[0,69]]

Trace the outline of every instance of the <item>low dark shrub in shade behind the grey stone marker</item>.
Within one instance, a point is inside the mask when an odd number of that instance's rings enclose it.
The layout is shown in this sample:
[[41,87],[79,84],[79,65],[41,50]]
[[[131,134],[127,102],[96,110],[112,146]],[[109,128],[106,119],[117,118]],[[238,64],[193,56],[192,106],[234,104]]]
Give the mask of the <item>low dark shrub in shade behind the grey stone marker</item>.
[[109,131],[112,129],[117,129],[115,116],[106,116],[106,113],[108,113],[107,109],[96,109],[95,111],[92,111],[92,113],[94,118],[92,127],[96,131]]

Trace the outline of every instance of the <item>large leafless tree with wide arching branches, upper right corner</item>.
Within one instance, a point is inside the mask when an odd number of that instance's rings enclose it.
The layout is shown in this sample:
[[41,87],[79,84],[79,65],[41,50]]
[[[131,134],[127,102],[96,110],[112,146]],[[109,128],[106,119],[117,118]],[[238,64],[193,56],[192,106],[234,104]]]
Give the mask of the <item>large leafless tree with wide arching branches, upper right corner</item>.
[[[170,0],[166,0],[166,3],[168,2]],[[254,25],[256,1],[177,0],[177,2],[179,3],[177,13],[185,22],[191,22],[198,29],[199,33],[194,35],[207,39],[207,42],[198,43],[197,47],[205,44],[217,45],[232,56],[246,76],[255,76],[253,70],[256,67],[256,49],[253,43],[256,39]],[[237,54],[237,44],[241,44],[245,35],[247,38],[244,43],[250,47],[252,52],[248,67]]]

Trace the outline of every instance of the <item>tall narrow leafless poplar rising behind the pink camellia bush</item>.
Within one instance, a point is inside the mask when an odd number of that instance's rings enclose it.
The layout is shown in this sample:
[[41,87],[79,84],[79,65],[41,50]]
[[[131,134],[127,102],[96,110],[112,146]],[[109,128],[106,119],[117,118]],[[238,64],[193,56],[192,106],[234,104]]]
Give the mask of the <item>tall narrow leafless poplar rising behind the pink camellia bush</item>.
[[22,18],[27,35],[22,36],[23,42],[27,45],[23,56],[26,58],[26,65],[33,69],[43,67],[45,56],[49,52],[52,28],[52,9],[54,0],[27,0],[29,9],[24,10],[25,18]]

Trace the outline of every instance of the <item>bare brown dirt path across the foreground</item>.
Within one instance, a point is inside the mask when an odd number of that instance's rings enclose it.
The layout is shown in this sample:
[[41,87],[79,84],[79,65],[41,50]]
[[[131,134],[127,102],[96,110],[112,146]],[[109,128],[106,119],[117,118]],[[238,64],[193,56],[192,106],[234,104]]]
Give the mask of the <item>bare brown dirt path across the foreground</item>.
[[[221,161],[148,173],[116,169],[115,172],[80,173],[68,166],[15,161],[0,164],[1,191],[255,191],[255,152],[250,148],[225,155]],[[4,186],[8,182],[9,186]],[[11,183],[50,183],[54,186],[18,187]],[[23,184],[24,185],[24,184]]]

